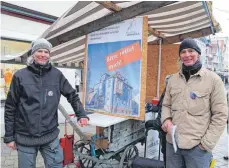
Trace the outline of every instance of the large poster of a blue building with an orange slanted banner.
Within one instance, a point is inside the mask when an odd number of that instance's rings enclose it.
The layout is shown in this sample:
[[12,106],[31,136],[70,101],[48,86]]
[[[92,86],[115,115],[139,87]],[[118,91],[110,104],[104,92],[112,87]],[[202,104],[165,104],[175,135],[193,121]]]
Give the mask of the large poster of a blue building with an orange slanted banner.
[[87,111],[144,119],[144,23],[143,17],[129,19],[88,35],[84,92]]

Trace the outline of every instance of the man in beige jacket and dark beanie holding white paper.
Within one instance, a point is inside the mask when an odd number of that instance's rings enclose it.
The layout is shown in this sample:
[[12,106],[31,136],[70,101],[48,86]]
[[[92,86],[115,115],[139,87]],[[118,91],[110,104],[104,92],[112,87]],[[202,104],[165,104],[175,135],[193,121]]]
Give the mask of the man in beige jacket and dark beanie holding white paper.
[[[228,107],[220,77],[202,67],[195,40],[179,49],[180,72],[168,82],[162,106],[162,129],[167,132],[166,168],[208,168],[212,150],[226,126]],[[174,152],[171,128],[176,125]]]

